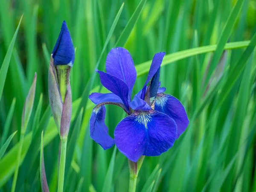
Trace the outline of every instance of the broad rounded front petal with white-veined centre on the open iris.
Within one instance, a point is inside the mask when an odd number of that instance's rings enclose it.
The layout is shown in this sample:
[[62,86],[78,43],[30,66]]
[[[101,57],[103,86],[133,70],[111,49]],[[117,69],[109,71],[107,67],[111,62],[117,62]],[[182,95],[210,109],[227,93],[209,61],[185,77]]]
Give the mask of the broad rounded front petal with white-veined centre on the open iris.
[[157,156],[175,142],[175,121],[155,110],[136,110],[125,117],[114,131],[117,148],[128,159],[137,162],[141,155]]

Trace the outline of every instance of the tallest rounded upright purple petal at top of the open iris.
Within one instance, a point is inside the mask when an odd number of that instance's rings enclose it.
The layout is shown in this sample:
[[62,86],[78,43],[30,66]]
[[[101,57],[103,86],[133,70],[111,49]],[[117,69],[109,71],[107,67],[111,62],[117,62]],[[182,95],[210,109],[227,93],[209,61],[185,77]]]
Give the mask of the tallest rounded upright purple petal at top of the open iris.
[[129,97],[131,98],[132,88],[136,81],[137,72],[132,60],[131,54],[122,47],[111,49],[106,60],[106,71],[124,81],[129,88]]

